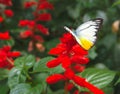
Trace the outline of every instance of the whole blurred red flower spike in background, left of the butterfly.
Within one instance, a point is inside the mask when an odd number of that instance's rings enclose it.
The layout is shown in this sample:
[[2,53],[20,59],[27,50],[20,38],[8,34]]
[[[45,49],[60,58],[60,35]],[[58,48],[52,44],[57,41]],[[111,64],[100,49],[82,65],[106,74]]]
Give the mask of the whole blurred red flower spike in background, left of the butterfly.
[[28,28],[20,33],[20,37],[31,38],[31,41],[29,42],[30,47],[28,47],[28,49],[30,49],[29,51],[33,49],[31,45],[36,45],[37,43],[42,43],[44,41],[44,39],[40,36],[41,33],[44,35],[49,35],[48,28],[40,24],[40,21],[50,21],[51,14],[47,13],[44,9],[53,9],[53,5],[47,0],[38,0],[38,2],[28,1],[24,3],[24,8],[30,8],[32,6],[36,6],[36,10],[33,13],[34,19],[20,20],[18,24],[20,27]]

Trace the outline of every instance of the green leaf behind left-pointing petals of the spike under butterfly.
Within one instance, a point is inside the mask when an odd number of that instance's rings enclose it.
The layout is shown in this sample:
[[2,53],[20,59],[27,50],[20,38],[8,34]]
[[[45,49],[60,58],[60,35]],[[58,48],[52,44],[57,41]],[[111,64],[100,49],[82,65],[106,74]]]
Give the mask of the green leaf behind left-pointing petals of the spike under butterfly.
[[33,72],[49,72],[49,73],[61,73],[63,72],[63,68],[61,66],[57,66],[55,68],[48,68],[46,66],[47,62],[54,59],[53,57],[45,57],[37,62],[33,67]]

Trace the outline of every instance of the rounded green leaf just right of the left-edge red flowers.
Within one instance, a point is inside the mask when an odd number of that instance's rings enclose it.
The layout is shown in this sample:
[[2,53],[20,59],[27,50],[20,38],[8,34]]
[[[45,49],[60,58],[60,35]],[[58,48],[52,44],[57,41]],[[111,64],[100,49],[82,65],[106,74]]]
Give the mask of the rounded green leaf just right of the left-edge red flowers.
[[14,61],[15,66],[30,69],[35,63],[35,57],[32,55],[19,57]]

